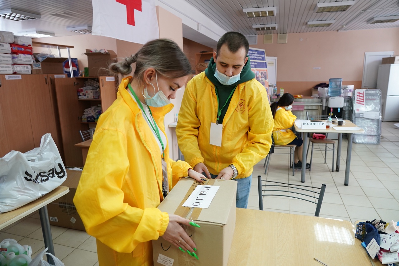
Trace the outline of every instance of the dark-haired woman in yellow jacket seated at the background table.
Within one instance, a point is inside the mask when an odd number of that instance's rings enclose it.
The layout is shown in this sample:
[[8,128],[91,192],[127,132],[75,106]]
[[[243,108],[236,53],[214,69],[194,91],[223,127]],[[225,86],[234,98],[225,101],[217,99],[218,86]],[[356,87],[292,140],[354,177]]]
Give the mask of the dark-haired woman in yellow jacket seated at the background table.
[[[296,119],[296,116],[291,112],[293,102],[294,96],[291,93],[284,93],[279,101],[270,105],[275,122],[272,134],[276,145],[296,145],[294,167],[295,169],[302,169],[303,140],[289,129]],[[306,169],[309,169],[309,167],[310,165],[306,163]]]

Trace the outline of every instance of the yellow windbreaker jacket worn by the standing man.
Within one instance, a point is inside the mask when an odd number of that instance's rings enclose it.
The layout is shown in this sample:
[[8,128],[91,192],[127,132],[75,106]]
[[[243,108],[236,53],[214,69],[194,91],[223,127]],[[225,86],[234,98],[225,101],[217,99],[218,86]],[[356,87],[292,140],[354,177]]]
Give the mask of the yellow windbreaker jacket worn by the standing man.
[[204,163],[214,175],[233,164],[237,178],[248,177],[271,147],[273,115],[265,87],[255,79],[237,86],[223,119],[221,147],[209,144],[216,117],[215,86],[202,72],[188,82],[178,116],[176,135],[184,159],[192,167]]

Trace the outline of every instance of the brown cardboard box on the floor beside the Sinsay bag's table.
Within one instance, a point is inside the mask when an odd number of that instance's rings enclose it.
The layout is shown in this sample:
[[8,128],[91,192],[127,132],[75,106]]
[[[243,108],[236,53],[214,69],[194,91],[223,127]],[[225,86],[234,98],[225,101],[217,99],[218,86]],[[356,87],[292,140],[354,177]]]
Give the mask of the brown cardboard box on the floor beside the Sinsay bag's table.
[[76,211],[75,204],[73,204],[73,197],[75,197],[81,174],[82,171],[67,169],[67,179],[62,185],[69,187],[69,192],[47,204],[51,225],[85,231],[85,226]]

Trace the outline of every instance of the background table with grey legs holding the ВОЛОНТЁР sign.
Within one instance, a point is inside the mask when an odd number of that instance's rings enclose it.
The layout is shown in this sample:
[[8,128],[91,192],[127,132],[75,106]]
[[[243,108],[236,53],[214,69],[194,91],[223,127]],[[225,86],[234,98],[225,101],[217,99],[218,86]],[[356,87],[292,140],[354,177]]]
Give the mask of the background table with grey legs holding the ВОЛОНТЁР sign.
[[[333,127],[357,127],[352,121],[344,120],[345,124],[342,126],[338,126],[336,123],[333,123]],[[350,173],[350,158],[352,156],[352,140],[353,140],[353,133],[364,133],[363,129],[359,130],[335,130],[334,128],[330,127],[328,129],[300,129],[298,128],[295,123],[295,130],[296,132],[303,132],[303,151],[302,151],[302,161],[306,162],[306,146],[308,144],[308,134],[305,133],[338,133],[338,147],[337,147],[337,163],[336,163],[336,171],[340,171],[340,161],[341,161],[341,144],[342,144],[342,134],[348,134],[348,149],[346,150],[346,168],[345,168],[345,181],[344,185],[349,185],[349,173]],[[301,171],[301,182],[305,182],[305,171],[306,167],[302,167]]]

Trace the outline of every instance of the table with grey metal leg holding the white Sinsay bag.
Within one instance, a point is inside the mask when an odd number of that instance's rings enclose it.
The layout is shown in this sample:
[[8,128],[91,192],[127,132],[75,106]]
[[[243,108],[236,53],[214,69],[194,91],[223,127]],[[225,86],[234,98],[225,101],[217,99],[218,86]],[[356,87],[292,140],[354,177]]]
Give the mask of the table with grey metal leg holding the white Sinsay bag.
[[[29,214],[31,214],[36,210],[39,210],[41,230],[43,231],[44,245],[46,248],[49,248],[47,252],[55,255],[54,246],[53,246],[53,237],[51,236],[49,215],[47,212],[47,204],[62,197],[68,192],[69,192],[68,187],[59,186],[55,188],[53,191],[44,195],[43,197],[40,197],[37,200],[29,202],[28,204],[25,204],[24,206],[21,206],[18,209],[1,213],[0,229],[9,226],[10,224],[24,218],[25,216],[28,216]],[[54,264],[53,258],[51,258],[51,256],[49,255],[47,255],[47,261]]]

